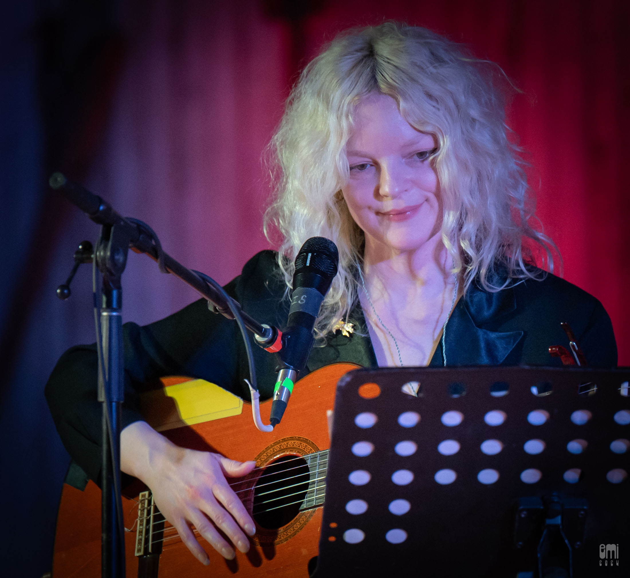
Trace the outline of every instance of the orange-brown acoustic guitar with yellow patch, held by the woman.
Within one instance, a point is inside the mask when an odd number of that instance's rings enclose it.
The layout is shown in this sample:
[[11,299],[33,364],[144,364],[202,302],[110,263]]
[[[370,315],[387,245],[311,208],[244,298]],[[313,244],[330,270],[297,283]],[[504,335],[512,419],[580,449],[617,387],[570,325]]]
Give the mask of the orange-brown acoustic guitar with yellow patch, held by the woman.
[[[329,437],[326,410],[335,386],[354,364],[322,367],[295,384],[289,407],[273,432],[258,431],[251,407],[219,386],[189,378],[165,378],[142,396],[147,422],[179,446],[255,460],[244,478],[227,478],[256,523],[249,552],[225,560],[200,535],[210,566],[200,564],[157,509],[151,492],[123,497],[127,576],[170,578],[274,576],[307,578],[318,554],[326,495]],[[269,422],[271,402],[261,403]],[[101,575],[101,493],[64,484],[57,517],[54,578]]]

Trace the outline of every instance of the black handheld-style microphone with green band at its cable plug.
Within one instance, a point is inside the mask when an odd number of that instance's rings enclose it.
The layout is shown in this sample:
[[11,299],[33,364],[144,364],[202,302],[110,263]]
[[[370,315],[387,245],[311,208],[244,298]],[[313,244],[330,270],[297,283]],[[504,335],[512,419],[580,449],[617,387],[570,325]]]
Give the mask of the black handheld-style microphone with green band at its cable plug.
[[270,423],[280,423],[299,373],[314,343],[313,327],[324,296],[337,274],[339,251],[333,241],[311,237],[295,257],[293,292],[287,329],[282,332],[282,365],[273,388]]

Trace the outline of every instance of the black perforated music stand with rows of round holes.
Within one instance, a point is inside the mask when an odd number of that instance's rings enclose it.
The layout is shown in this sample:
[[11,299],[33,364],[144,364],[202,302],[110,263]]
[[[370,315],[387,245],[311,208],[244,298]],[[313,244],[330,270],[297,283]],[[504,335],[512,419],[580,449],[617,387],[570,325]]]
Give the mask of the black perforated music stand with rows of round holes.
[[629,380],[630,368],[347,374],[314,576],[628,575]]

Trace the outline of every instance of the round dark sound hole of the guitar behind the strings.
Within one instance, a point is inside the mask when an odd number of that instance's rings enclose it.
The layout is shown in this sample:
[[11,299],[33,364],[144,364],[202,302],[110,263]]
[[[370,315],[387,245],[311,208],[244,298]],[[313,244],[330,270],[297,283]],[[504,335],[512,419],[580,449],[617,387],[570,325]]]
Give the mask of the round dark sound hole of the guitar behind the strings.
[[299,514],[309,489],[309,466],[299,456],[282,456],[266,466],[254,488],[253,517],[262,528],[277,529]]

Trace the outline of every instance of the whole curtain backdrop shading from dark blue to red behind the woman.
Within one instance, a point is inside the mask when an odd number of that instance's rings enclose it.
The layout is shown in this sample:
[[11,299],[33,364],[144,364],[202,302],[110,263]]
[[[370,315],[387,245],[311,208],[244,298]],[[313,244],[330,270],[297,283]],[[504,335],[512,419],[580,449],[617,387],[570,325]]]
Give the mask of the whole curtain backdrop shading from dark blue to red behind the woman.
[[[0,560],[10,576],[50,570],[69,458],[43,386],[64,350],[94,340],[88,268],[69,301],[54,290],[98,228],[47,190],[48,175],[65,171],[226,282],[268,246],[261,153],[289,86],[348,26],[427,26],[503,67],[522,90],[508,124],[532,164],[537,214],[564,277],[604,303],[619,363],[630,364],[626,0],[22,0],[2,14]],[[123,287],[124,318],[138,323],[195,299],[135,254]]]

